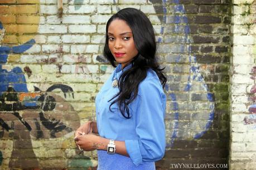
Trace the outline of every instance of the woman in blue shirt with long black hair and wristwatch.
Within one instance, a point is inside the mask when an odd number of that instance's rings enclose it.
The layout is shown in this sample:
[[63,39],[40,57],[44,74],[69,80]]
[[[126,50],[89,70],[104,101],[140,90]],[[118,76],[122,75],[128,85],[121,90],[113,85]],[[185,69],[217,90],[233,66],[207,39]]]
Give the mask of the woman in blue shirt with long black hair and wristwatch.
[[75,132],[80,148],[98,150],[98,169],[155,169],[165,153],[166,77],[155,54],[143,12],[125,8],[109,19],[104,56],[116,68],[96,96],[97,122]]

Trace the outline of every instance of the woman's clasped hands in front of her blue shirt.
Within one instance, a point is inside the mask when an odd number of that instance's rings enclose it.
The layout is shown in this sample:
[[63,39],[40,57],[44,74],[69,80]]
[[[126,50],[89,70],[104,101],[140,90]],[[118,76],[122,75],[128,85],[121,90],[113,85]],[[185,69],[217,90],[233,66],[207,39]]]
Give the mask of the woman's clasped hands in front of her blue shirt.
[[104,144],[100,143],[101,137],[95,134],[84,134],[76,137],[76,144],[84,149],[84,151],[94,151],[95,149],[103,149]]

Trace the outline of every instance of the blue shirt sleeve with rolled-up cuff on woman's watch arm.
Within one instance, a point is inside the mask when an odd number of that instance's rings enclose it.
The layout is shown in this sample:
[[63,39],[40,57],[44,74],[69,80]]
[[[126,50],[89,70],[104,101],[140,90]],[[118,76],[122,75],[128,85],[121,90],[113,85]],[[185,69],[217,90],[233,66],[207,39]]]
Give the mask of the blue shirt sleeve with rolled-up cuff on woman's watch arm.
[[166,96],[157,79],[147,79],[139,85],[133,113],[138,139],[125,140],[125,147],[133,163],[154,162],[165,154]]

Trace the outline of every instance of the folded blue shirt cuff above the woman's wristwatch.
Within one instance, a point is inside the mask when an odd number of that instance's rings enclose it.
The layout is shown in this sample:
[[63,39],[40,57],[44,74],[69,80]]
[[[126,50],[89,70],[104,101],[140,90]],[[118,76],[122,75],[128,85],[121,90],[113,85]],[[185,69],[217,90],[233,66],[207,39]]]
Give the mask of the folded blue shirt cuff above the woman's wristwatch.
[[142,163],[141,150],[139,149],[138,140],[125,140],[126,151],[128,152],[132,162],[138,166]]

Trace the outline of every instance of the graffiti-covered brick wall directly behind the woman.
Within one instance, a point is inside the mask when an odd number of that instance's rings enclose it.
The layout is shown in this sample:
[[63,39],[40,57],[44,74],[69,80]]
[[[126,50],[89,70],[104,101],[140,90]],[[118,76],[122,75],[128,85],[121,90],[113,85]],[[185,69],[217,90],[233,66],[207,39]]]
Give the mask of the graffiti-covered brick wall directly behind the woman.
[[[96,93],[113,67],[102,56],[105,23],[141,9],[166,67],[166,154],[171,163],[227,163],[231,2],[220,0],[0,1],[0,168],[96,167],[78,155],[74,130],[95,118]],[[7,58],[8,57],[8,58]],[[6,59],[7,58],[7,59]]]

